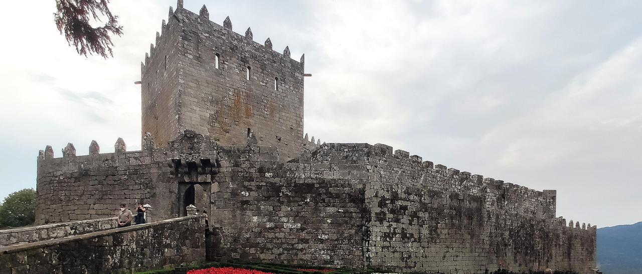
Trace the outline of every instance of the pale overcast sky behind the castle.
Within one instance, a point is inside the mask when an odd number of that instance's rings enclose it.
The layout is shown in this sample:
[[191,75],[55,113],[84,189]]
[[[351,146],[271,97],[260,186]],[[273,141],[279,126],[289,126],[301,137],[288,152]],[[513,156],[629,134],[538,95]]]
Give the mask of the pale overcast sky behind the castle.
[[[38,150],[140,149],[140,62],[175,1],[112,0],[114,58],[78,56],[55,1],[6,1],[0,198],[35,188]],[[640,1],[223,1],[234,31],[306,54],[305,131],[385,143],[461,171],[557,189],[557,214],[642,220]],[[469,2],[473,2],[472,4]],[[11,12],[6,12],[11,11]]]

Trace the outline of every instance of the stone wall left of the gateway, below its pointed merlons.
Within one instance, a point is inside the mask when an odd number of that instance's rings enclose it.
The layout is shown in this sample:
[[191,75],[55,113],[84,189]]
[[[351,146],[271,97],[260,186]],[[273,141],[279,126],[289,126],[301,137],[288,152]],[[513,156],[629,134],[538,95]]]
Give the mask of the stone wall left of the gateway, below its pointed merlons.
[[[52,154],[38,161],[36,224],[116,216],[152,193],[152,156],[116,152],[85,156]],[[158,166],[158,165],[155,165]]]

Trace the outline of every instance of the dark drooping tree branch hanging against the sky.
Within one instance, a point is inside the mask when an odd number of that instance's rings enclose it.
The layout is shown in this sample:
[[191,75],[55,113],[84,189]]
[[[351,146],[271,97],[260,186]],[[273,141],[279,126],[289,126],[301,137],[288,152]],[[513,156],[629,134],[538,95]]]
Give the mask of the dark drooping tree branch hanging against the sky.
[[[114,56],[110,35],[120,36],[123,27],[118,24],[118,17],[112,15],[107,7],[109,0],[56,0],[53,13],[56,27],[64,34],[69,45],[76,47],[78,54],[100,54],[103,58]],[[93,28],[90,20],[101,22],[106,17],[104,26]]]

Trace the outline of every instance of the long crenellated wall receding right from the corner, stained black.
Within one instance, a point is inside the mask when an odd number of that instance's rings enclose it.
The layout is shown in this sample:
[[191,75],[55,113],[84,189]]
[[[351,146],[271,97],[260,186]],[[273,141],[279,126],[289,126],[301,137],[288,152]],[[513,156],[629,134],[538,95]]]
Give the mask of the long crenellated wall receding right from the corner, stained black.
[[568,232],[553,222],[555,191],[483,179],[381,144],[370,147],[367,165],[364,245],[370,266],[593,273],[595,229]]

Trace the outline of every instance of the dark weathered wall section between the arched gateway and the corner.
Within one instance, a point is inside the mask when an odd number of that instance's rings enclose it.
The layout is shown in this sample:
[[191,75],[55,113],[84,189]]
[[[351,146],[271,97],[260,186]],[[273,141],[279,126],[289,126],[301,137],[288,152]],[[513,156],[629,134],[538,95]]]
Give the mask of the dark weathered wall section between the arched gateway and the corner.
[[279,163],[264,147],[220,156],[210,214],[219,255],[363,266],[364,165]]

